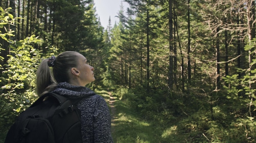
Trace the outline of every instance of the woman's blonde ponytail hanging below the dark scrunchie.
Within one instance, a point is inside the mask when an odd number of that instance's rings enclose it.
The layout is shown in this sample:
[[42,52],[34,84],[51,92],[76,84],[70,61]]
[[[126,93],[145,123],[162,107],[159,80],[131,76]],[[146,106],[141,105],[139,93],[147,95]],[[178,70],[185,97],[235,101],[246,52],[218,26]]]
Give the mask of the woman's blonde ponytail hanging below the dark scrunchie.
[[48,59],[44,59],[36,72],[36,93],[39,97],[53,91],[57,87],[47,62]]

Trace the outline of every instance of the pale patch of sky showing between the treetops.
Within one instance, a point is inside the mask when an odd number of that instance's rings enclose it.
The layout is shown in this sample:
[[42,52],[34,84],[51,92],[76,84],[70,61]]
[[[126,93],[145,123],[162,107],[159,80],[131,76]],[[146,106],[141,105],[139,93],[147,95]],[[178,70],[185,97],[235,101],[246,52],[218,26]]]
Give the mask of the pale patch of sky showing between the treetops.
[[[110,17],[111,26],[113,27],[115,22],[119,22],[119,18],[115,17],[118,15],[122,0],[94,0],[96,7],[96,13],[101,21],[101,26],[105,29],[108,26],[108,20]],[[128,3],[123,2],[124,11],[128,7]],[[125,12],[126,13],[126,12]]]

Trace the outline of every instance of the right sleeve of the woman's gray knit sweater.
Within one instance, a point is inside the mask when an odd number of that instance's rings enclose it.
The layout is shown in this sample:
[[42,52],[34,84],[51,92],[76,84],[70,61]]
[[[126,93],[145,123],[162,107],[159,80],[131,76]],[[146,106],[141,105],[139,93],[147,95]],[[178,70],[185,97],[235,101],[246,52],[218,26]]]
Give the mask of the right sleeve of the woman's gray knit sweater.
[[94,143],[113,143],[110,111],[102,97],[96,103],[93,126]]

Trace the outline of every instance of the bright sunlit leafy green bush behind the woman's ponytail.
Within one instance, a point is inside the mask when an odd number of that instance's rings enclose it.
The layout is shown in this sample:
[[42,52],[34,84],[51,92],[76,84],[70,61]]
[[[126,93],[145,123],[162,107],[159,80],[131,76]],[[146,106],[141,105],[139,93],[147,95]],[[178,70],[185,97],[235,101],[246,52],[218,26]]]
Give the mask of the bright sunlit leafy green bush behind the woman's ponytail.
[[[7,68],[2,72],[0,95],[0,127],[7,131],[14,118],[36,100],[36,69],[40,52],[34,48],[40,43],[34,35],[11,45]],[[5,134],[2,134],[4,136]]]

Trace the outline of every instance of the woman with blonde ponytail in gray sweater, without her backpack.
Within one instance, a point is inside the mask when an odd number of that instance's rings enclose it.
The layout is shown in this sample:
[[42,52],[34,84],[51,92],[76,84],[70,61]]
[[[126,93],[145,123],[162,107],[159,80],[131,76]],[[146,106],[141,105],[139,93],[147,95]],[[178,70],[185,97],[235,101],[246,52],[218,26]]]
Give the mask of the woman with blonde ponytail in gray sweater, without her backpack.
[[[52,67],[51,75],[49,67]],[[104,98],[85,86],[95,80],[94,67],[78,52],[63,52],[39,65],[36,86],[39,96],[53,92],[68,98],[83,98],[77,107],[81,110],[83,143],[113,143],[111,118]]]

